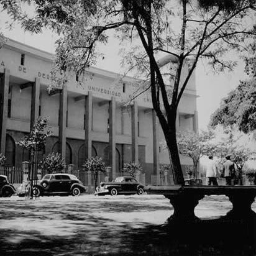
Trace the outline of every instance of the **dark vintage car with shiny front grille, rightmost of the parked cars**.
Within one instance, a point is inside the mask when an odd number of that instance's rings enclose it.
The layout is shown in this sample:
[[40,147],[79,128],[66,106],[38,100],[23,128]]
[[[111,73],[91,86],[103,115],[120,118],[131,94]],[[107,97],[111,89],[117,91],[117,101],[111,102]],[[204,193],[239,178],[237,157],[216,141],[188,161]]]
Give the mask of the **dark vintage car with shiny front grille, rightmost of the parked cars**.
[[96,194],[103,196],[105,194],[111,194],[116,196],[117,194],[143,194],[144,185],[139,183],[135,178],[131,176],[117,177],[112,182],[101,182],[96,189]]

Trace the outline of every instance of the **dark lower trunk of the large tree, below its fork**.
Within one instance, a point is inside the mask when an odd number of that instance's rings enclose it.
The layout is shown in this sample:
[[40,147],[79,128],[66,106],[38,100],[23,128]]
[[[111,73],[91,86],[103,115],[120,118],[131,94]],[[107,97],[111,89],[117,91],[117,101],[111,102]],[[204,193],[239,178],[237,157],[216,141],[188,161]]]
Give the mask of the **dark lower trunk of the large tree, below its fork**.
[[[174,123],[175,125],[175,123]],[[163,131],[165,134],[165,131]],[[180,155],[178,152],[178,146],[176,141],[176,130],[170,128],[168,135],[165,136],[167,140],[167,147],[170,155],[171,171],[173,173],[173,181],[175,185],[184,185],[184,176],[180,163]]]

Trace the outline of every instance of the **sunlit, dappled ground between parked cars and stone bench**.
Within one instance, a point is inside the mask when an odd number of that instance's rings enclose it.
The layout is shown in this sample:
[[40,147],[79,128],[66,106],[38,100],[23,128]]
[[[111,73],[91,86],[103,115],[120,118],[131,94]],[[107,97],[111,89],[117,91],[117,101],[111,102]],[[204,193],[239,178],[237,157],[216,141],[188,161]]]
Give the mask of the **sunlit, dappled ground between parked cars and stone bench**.
[[[157,249],[173,212],[164,196],[12,196],[0,204],[1,256],[167,255]],[[195,213],[217,217],[231,208],[225,196],[208,196]]]

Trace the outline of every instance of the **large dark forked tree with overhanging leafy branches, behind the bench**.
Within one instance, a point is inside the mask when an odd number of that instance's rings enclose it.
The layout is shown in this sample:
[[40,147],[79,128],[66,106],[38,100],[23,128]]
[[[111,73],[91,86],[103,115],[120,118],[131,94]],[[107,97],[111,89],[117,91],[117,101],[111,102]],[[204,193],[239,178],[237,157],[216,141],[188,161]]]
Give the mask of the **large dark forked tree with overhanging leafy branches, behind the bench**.
[[[255,0],[78,0],[30,1],[35,16],[22,11],[19,1],[0,1],[25,30],[42,27],[60,35],[54,73],[64,73],[58,86],[65,85],[69,71],[83,73],[96,63],[96,43],[107,43],[115,30],[121,43],[129,42],[124,53],[128,70],[145,78],[142,91],[150,89],[153,109],[162,127],[170,153],[176,184],[184,184],[176,143],[176,111],[199,58],[206,58],[214,70],[232,70],[235,62],[225,60],[231,50],[247,49],[255,29],[243,22],[254,17]],[[173,24],[176,24],[175,26]],[[176,29],[178,27],[178,29]],[[161,53],[168,57],[157,62]],[[163,60],[163,59],[162,59]],[[174,62],[174,73],[160,69]],[[183,71],[189,65],[189,71]]]

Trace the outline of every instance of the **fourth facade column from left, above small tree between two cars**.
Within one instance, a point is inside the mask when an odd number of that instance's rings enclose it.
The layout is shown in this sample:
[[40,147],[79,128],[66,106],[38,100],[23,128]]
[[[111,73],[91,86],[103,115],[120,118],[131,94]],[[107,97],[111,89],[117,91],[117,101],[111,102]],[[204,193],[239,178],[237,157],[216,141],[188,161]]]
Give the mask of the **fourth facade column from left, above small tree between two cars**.
[[85,159],[91,158],[91,130],[93,127],[93,94],[85,96]]

